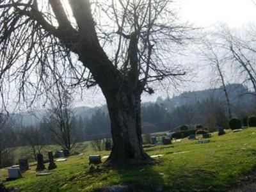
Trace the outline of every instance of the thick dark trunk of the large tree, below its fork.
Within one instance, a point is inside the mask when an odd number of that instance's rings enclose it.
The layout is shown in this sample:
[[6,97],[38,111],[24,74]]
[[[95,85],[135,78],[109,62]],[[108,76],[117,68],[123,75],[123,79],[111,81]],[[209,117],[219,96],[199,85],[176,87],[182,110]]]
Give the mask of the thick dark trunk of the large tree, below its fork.
[[140,93],[122,88],[106,96],[113,149],[107,163],[145,163],[150,157],[143,150]]

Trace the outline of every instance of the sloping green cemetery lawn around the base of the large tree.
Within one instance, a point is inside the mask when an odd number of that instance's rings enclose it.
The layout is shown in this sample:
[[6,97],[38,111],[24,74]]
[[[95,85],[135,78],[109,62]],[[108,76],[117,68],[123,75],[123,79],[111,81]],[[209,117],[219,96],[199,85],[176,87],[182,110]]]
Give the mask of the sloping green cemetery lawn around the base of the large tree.
[[[163,154],[154,165],[89,171],[88,155],[92,152],[85,152],[57,162],[58,168],[44,177],[35,176],[36,166],[32,163],[22,179],[4,184],[18,191],[93,191],[116,184],[131,184],[143,191],[225,191],[256,167],[256,128],[212,135],[211,141],[204,144],[184,139],[172,145],[145,148],[150,156]],[[109,152],[93,154],[105,156]],[[6,170],[0,173],[6,175]]]

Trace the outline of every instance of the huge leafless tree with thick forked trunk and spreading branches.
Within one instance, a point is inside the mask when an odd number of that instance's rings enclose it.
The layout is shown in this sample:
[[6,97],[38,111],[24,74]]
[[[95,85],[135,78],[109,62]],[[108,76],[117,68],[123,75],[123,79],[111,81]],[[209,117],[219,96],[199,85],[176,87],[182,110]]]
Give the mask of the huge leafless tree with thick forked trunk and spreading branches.
[[[97,84],[111,119],[108,162],[147,161],[141,93],[154,93],[154,81],[177,85],[185,74],[172,53],[180,51],[176,45],[188,39],[190,28],[177,22],[171,3],[1,0],[0,85],[16,81],[19,100],[28,96],[33,103],[60,79],[74,86]],[[3,93],[6,86],[0,87]]]

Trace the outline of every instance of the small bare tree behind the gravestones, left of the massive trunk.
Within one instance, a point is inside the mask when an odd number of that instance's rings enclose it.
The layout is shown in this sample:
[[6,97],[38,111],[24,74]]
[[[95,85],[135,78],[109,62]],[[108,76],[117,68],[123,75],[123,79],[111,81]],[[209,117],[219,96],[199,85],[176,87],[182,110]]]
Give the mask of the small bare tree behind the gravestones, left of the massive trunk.
[[52,141],[62,148],[71,150],[76,146],[76,118],[72,109],[72,97],[67,90],[57,84],[57,92],[52,93],[51,108],[45,115],[46,128],[51,132]]

